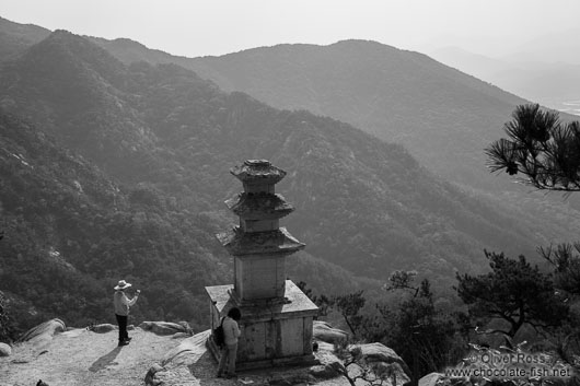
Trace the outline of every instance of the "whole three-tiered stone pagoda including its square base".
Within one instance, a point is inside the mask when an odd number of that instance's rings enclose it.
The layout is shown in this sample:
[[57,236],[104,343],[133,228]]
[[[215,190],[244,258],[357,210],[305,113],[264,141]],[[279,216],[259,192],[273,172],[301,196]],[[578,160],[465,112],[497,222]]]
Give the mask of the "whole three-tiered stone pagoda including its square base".
[[[206,288],[211,328],[230,308],[242,312],[236,369],[311,364],[312,321],[318,308],[286,279],[286,257],[305,246],[279,226],[279,220],[294,210],[275,192],[286,172],[265,160],[248,160],[230,173],[244,186],[225,201],[240,217],[240,225],[217,236],[234,258],[234,280]],[[212,339],[208,346],[219,358]]]

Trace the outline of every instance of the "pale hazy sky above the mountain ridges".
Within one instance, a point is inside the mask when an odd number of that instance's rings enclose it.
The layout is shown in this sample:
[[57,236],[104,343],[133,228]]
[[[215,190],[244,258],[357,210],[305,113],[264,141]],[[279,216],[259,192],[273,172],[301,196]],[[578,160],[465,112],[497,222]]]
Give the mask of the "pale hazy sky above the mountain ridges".
[[578,28],[579,15],[580,0],[0,0],[0,16],[13,22],[128,37],[189,57],[347,38],[499,56]]

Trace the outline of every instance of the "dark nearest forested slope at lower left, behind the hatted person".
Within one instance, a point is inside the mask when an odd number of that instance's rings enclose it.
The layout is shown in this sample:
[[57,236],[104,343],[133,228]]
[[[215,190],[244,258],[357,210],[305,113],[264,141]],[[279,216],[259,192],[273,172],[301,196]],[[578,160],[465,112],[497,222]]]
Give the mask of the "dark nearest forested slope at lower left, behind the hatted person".
[[21,304],[16,325],[108,319],[119,276],[146,288],[136,317],[196,319],[204,285],[230,271],[201,214],[176,212],[144,186],[117,185],[3,112],[0,140],[0,290]]

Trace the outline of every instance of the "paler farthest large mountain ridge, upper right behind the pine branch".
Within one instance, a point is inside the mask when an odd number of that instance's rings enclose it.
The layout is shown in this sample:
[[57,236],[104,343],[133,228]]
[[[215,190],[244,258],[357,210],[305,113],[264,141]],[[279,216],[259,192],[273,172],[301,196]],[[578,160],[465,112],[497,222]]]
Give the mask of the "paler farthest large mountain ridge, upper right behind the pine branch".
[[[103,46],[126,63],[136,59],[135,49],[128,56],[117,40]],[[143,60],[174,62],[169,55],[152,58],[146,52]],[[366,40],[177,60],[225,91],[338,118],[404,144],[450,180],[495,190],[498,180],[485,169],[483,148],[524,102],[425,55]]]

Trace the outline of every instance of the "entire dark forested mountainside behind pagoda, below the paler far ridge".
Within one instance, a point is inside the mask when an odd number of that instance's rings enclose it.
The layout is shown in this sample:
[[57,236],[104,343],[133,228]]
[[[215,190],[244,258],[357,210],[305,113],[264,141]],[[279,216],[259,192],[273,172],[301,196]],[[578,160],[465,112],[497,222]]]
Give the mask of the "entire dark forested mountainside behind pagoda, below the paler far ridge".
[[289,172],[278,188],[297,211],[283,223],[310,254],[290,258],[290,276],[326,292],[394,269],[448,286],[484,268],[484,248],[534,255],[562,231],[348,124],[224,93],[175,65],[127,66],[62,31],[3,65],[0,106],[0,290],[71,323],[109,315],[120,277],[143,289],[136,317],[205,323],[204,285],[231,281],[213,235],[235,222],[222,202],[242,189],[228,171],[246,159]]

